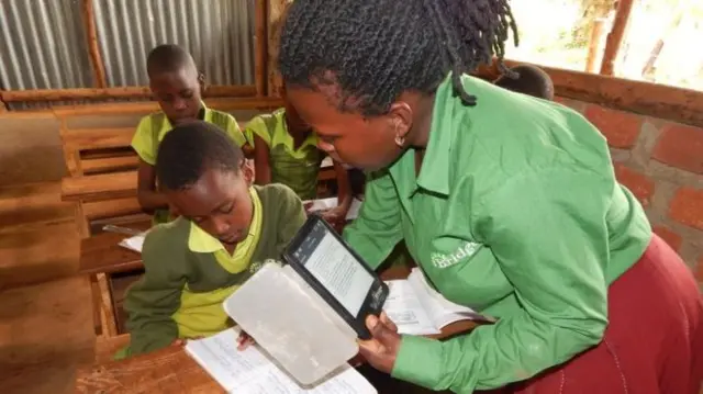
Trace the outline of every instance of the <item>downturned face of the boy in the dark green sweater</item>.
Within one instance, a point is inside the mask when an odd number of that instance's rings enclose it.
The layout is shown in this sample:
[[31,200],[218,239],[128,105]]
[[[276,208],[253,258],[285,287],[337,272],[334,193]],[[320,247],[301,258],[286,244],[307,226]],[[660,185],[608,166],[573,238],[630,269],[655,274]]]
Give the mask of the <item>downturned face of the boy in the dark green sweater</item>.
[[187,190],[166,191],[176,213],[193,221],[223,244],[236,244],[249,234],[254,170],[243,160],[238,173],[211,168]]

